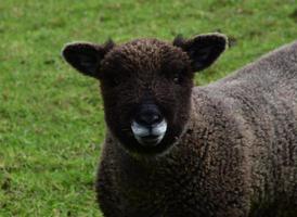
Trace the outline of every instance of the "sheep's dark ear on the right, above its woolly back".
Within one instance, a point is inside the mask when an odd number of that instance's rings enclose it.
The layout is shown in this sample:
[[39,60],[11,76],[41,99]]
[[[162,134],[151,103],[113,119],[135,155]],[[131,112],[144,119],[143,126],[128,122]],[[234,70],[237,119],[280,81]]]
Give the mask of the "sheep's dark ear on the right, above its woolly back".
[[178,36],[173,41],[173,46],[180,47],[189,54],[193,72],[210,66],[225,50],[227,44],[227,36],[216,33],[198,35],[189,40]]

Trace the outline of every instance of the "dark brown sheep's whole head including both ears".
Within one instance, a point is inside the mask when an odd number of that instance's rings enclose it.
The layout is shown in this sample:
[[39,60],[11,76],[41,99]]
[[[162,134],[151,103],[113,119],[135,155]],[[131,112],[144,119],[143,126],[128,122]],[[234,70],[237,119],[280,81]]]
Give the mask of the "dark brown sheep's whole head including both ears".
[[128,151],[157,154],[181,136],[190,115],[194,73],[224,51],[220,34],[173,42],[137,39],[116,46],[70,43],[65,60],[101,82],[105,120]]

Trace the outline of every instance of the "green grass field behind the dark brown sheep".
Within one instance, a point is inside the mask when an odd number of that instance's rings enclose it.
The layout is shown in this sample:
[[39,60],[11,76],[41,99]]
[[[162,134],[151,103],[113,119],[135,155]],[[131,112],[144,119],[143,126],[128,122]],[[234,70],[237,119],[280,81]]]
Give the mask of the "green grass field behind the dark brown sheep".
[[0,216],[101,216],[93,181],[104,138],[95,80],[60,55],[74,40],[171,40],[220,30],[233,47],[197,85],[297,39],[295,0],[2,0]]

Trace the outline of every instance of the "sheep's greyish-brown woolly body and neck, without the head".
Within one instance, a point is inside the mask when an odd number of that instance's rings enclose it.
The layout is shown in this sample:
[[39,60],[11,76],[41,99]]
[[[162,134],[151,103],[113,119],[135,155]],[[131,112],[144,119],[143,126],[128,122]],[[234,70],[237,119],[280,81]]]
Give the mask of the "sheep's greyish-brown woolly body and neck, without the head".
[[107,132],[106,216],[297,216],[297,42],[192,92],[189,124],[156,157]]

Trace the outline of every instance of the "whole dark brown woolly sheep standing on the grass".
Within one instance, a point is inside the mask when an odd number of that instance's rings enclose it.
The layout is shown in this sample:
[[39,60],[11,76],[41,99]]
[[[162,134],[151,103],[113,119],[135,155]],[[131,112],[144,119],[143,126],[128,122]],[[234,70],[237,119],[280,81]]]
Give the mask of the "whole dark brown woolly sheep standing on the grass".
[[297,216],[297,41],[194,87],[227,44],[215,33],[64,48],[100,80],[104,216]]

